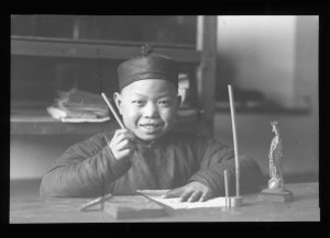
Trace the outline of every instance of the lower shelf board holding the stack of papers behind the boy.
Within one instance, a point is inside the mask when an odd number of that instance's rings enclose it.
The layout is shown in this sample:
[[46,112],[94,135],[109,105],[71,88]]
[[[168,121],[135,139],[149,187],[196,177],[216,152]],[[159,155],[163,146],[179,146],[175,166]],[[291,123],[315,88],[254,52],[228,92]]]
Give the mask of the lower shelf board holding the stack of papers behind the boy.
[[[178,117],[176,131],[199,129],[201,116]],[[103,123],[63,123],[51,117],[45,110],[12,110],[11,135],[86,135],[119,128],[113,117]]]

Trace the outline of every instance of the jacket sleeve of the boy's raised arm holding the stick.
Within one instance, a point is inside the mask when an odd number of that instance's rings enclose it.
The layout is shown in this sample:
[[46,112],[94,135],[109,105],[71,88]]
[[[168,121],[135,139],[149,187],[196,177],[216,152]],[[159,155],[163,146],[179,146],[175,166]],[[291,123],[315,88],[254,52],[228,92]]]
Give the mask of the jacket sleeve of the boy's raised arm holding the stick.
[[[43,177],[41,196],[96,196],[131,167],[118,161],[101,134],[68,148]],[[107,185],[106,185],[107,184]],[[106,189],[108,188],[108,189]]]

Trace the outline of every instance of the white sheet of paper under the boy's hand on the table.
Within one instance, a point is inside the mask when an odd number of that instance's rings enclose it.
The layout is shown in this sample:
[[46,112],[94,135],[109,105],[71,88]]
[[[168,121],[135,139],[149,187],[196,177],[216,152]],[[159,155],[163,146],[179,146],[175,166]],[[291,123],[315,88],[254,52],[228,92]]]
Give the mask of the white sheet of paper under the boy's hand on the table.
[[167,205],[174,209],[190,209],[190,208],[201,208],[201,207],[222,207],[226,205],[226,197],[216,197],[208,200],[206,202],[180,202],[179,197],[163,199],[164,195],[169,190],[138,190],[136,192],[150,197],[151,200],[157,201],[164,205]]

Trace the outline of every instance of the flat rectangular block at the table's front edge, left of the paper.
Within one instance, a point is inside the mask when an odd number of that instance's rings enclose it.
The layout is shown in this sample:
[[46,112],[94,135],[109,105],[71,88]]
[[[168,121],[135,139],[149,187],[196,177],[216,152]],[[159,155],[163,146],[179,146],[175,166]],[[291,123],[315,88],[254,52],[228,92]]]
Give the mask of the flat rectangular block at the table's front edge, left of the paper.
[[117,219],[161,217],[164,207],[145,196],[113,196],[105,203],[105,212]]

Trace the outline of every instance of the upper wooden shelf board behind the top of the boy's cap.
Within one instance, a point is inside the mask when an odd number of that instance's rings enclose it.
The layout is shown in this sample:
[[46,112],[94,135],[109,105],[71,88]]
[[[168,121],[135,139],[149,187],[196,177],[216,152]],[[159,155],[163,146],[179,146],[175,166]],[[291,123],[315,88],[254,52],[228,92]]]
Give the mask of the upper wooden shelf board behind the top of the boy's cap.
[[[11,36],[11,55],[124,60],[141,53],[142,43],[74,41],[65,38]],[[176,45],[154,45],[154,53],[179,63],[199,64],[200,52]]]

